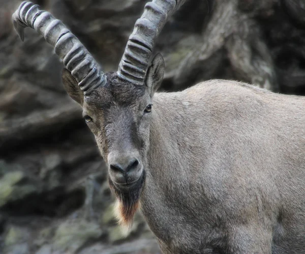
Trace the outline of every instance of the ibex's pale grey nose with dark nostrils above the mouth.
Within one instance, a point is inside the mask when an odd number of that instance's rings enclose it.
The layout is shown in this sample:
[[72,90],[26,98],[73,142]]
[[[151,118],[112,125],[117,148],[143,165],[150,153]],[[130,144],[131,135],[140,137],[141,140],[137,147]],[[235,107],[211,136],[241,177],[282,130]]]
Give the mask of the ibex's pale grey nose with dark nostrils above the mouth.
[[142,166],[131,155],[108,155],[109,175],[116,184],[131,184],[136,182],[142,175]]

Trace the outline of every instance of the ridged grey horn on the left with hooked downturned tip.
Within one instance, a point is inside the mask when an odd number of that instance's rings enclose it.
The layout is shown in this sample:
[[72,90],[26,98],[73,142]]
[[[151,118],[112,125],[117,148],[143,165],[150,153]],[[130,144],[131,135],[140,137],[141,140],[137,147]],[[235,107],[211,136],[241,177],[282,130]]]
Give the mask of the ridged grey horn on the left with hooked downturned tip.
[[24,28],[31,27],[42,35],[55,48],[55,53],[78,82],[84,95],[106,83],[106,76],[88,50],[80,43],[62,21],[38,5],[22,2],[12,16],[14,27],[24,40]]

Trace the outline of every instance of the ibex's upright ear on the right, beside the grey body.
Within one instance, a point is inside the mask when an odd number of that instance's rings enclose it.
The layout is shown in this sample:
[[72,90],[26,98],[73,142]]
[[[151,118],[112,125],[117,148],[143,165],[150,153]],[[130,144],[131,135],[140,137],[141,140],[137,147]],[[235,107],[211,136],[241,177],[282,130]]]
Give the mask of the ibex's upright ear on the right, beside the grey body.
[[154,93],[161,86],[164,75],[164,68],[165,68],[164,59],[162,55],[158,53],[156,54],[153,61],[151,61],[151,65],[147,70],[146,78],[145,78],[145,84],[150,93],[150,97],[153,97]]

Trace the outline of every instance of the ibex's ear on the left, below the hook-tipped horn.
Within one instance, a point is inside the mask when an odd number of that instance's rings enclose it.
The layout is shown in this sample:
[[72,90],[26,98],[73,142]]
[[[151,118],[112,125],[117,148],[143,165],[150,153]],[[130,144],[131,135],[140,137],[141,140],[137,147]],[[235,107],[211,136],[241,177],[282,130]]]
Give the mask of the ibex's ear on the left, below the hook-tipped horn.
[[71,72],[64,68],[62,78],[64,88],[69,96],[82,106],[84,102],[84,94],[80,90],[76,79],[71,75]]

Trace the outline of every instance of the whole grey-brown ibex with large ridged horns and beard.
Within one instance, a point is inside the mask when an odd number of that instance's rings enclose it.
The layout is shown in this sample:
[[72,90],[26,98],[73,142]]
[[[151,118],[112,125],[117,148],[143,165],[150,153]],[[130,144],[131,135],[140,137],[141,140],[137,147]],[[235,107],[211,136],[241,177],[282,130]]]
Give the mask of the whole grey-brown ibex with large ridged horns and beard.
[[50,13],[13,14],[63,60],[63,84],[83,109],[108,165],[119,222],[139,208],[164,253],[305,253],[305,98],[228,80],[158,93],[164,60],[149,57],[185,0],[153,0],[118,71],[104,73]]

